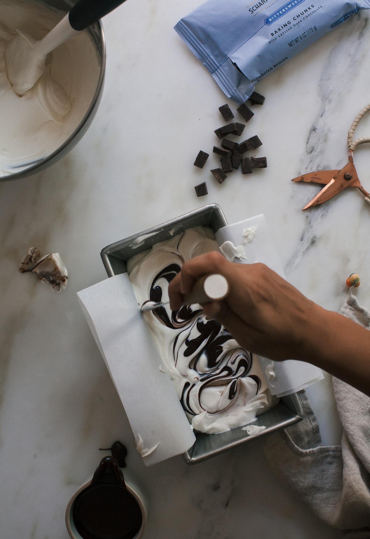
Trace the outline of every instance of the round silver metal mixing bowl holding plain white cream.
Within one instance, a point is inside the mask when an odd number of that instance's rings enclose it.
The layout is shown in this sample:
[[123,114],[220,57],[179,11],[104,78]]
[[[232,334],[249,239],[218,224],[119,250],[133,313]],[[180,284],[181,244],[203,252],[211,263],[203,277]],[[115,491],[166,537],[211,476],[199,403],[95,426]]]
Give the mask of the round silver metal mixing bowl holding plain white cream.
[[[74,4],[76,4],[76,2],[77,0],[44,0],[45,4],[66,12],[70,11],[70,9],[73,7]],[[30,167],[26,169],[23,169],[19,172],[14,172],[13,174],[8,174],[7,176],[1,176],[1,182],[9,181],[11,179],[25,178],[26,176],[31,176],[32,174],[36,174],[37,172],[40,172],[47,167],[50,167],[50,165],[59,161],[61,157],[64,157],[68,153],[68,151],[74,148],[74,146],[76,146],[76,144],[82,139],[87,129],[90,127],[91,122],[93,121],[94,116],[97,113],[101,94],[104,87],[106,50],[104,31],[100,20],[97,23],[94,23],[89,26],[87,31],[91,34],[93,42],[97,47],[97,52],[100,59],[100,74],[97,88],[85,116],[81,119],[79,125],[74,130],[74,132],[65,140],[63,144],[61,144],[61,146],[59,146],[59,148],[57,148],[47,157],[36,161],[34,164],[31,164]]]

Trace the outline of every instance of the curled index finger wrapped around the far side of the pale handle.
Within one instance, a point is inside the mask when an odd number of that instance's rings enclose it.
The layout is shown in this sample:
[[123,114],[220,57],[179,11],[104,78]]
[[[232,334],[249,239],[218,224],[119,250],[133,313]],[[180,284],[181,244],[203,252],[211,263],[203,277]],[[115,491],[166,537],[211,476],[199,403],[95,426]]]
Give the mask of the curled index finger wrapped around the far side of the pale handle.
[[211,251],[194,257],[181,268],[181,293],[187,294],[193,288],[195,282],[208,273],[223,273],[228,262],[221,253]]

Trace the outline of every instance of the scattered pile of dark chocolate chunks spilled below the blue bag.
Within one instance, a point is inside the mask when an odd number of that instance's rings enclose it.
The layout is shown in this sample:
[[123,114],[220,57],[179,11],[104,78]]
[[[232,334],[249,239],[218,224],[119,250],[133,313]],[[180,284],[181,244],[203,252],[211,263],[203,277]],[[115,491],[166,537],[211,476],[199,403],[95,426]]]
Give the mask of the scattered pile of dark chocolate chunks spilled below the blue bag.
[[[265,98],[263,95],[253,92],[249,98],[251,106],[253,105],[263,105]],[[229,105],[225,104],[222,107],[219,107],[220,113],[225,120],[225,122],[230,122],[234,119],[235,116],[232,113]],[[237,112],[243,116],[245,122],[249,122],[254,113],[249,107],[243,103],[239,106]],[[218,183],[223,183],[227,178],[227,174],[233,170],[241,168],[242,174],[251,174],[253,168],[266,168],[267,159],[266,157],[244,157],[246,151],[256,150],[262,146],[261,140],[257,135],[245,139],[243,142],[234,142],[230,139],[227,139],[228,135],[241,136],[245,128],[245,123],[241,122],[231,122],[225,126],[215,129],[215,134],[218,139],[221,141],[221,148],[218,146],[213,147],[213,153],[220,155],[221,168],[212,169],[211,173],[214,175]],[[194,165],[198,168],[203,168],[205,162],[207,161],[209,154],[205,151],[200,151],[197,155],[197,158],[194,162]],[[202,197],[208,194],[207,185],[205,182],[200,183],[195,186],[195,192],[198,197]]]

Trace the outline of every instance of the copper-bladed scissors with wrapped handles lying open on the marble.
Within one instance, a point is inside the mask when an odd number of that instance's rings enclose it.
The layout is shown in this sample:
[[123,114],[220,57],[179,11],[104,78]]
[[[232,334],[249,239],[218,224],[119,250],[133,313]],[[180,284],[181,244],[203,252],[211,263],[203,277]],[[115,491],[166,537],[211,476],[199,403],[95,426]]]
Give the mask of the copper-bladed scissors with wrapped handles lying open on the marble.
[[370,105],[366,105],[366,107],[360,110],[356,118],[353,120],[350,129],[348,130],[348,163],[345,165],[345,167],[340,170],[319,170],[317,172],[309,172],[308,174],[303,174],[303,176],[297,176],[297,178],[292,179],[292,182],[319,183],[324,185],[323,189],[321,189],[321,191],[319,191],[318,194],[313,197],[312,201],[306,204],[302,210],[307,210],[312,208],[312,206],[317,206],[318,204],[327,201],[346,187],[357,187],[361,191],[362,195],[365,195],[365,201],[370,204],[370,194],[362,187],[353,164],[353,150],[360,146],[360,144],[370,142],[370,137],[356,139],[353,141],[353,133],[355,128],[357,127],[361,118],[363,118],[365,114],[369,112],[369,110]]

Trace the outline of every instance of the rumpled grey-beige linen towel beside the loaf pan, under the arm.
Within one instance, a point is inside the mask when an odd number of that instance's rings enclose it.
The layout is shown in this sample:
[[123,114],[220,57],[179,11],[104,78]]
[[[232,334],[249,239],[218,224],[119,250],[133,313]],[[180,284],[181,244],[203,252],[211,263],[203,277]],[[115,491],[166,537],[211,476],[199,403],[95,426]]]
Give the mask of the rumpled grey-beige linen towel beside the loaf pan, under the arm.
[[[350,296],[340,314],[370,329],[370,313]],[[351,358],[348,358],[350,361]],[[340,446],[324,446],[304,390],[300,423],[266,437],[265,454],[280,479],[319,518],[342,530],[346,539],[370,538],[370,398],[333,377],[343,436]]]

